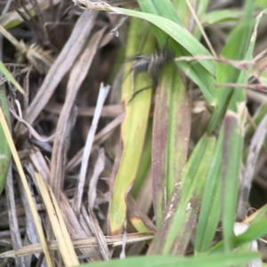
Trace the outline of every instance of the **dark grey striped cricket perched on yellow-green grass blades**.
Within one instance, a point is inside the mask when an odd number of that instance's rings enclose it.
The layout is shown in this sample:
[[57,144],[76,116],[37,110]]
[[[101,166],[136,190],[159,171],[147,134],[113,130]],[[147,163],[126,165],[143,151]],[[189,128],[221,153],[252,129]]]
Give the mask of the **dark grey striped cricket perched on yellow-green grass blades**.
[[136,61],[134,63],[133,68],[131,71],[134,72],[134,74],[142,73],[142,72],[148,72],[152,81],[153,85],[150,85],[148,87],[142,88],[132,95],[131,99],[128,103],[134,100],[134,97],[141,93],[144,90],[150,89],[151,87],[158,85],[158,72],[162,66],[164,66],[169,61],[174,60],[174,53],[170,50],[167,43],[162,48],[162,51],[152,54],[137,54],[134,57],[131,57],[129,61]]

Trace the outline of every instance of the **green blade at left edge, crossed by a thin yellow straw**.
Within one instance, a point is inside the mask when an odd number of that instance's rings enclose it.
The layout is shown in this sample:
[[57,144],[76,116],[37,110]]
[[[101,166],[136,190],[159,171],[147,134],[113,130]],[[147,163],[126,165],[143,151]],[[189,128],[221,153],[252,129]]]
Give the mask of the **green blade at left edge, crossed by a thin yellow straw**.
[[[3,86],[0,86],[0,107],[3,109],[4,118],[8,125],[8,129],[11,129],[10,113],[7,105],[5,90]],[[6,129],[6,130],[8,130]],[[7,178],[9,166],[11,162],[11,150],[8,142],[4,137],[3,125],[0,125],[0,195],[4,190],[5,181]]]

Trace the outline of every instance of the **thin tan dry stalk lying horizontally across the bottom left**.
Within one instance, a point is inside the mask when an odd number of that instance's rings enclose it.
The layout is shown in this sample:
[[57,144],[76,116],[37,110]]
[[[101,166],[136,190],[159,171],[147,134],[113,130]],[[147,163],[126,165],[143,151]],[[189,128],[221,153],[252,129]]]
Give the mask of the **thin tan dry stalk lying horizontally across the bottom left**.
[[[133,233],[127,235],[127,243],[133,244],[136,242],[142,242],[153,239],[154,234],[152,233]],[[106,242],[111,247],[119,247],[122,246],[123,236],[117,235],[112,237],[105,237]],[[72,239],[72,244],[75,248],[86,248],[86,247],[98,247],[99,244],[96,238],[86,238],[86,239]],[[59,249],[59,245],[57,241],[50,241],[48,242],[49,250],[57,250]],[[32,255],[36,253],[42,252],[41,245],[33,244],[26,247],[21,247],[19,249],[13,249],[6,251],[0,254],[0,258],[7,258],[7,257],[21,257],[25,255]]]

